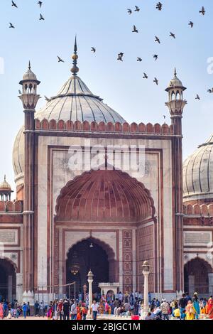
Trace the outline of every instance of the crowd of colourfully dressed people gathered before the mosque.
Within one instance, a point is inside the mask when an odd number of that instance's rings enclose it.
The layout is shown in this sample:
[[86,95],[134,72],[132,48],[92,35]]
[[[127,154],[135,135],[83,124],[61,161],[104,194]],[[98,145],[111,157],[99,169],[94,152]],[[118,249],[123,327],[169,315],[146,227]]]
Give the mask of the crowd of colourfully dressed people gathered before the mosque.
[[[22,316],[43,316],[49,320],[86,320],[87,313],[94,320],[97,316],[132,316],[132,318],[143,315],[143,296],[141,293],[112,293],[95,295],[92,305],[89,305],[88,294],[82,298],[79,294],[76,298],[64,298],[50,301],[47,305],[43,301],[35,301],[32,310],[29,303],[0,302],[0,319],[19,318]],[[85,299],[85,300],[83,300]],[[183,293],[179,300],[166,301],[165,298],[149,298],[149,311],[145,320],[195,320],[201,318],[213,319],[213,298],[199,298],[197,293],[189,296]]]

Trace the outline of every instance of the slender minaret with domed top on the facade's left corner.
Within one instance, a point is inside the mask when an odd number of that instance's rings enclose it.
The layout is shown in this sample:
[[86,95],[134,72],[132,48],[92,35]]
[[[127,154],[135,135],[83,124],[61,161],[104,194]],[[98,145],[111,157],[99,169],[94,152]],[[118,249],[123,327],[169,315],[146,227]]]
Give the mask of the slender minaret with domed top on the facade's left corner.
[[[34,114],[35,107],[40,98],[37,95],[37,86],[40,81],[31,71],[31,63],[27,72],[23,75],[22,95],[19,96],[23,103],[25,115],[25,169],[24,169],[24,211],[23,211],[23,301],[33,304],[33,237],[34,237]],[[28,293],[28,296],[26,296]],[[26,299],[24,300],[24,296]]]

